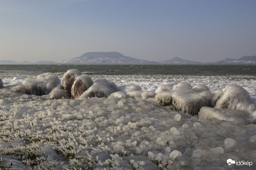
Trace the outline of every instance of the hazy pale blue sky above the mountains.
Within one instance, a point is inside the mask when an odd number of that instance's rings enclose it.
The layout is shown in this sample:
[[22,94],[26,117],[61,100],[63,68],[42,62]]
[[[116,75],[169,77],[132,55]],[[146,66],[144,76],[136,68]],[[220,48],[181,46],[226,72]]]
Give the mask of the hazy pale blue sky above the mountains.
[[256,55],[256,0],[0,0],[0,60]]

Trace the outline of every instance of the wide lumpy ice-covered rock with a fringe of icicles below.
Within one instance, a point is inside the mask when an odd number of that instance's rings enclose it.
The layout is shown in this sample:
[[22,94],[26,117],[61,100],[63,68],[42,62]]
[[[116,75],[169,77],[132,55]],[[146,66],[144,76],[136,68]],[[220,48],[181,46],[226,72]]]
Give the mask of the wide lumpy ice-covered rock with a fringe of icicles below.
[[199,91],[186,82],[180,82],[171,91],[157,93],[155,98],[176,111],[197,115],[201,107],[210,107],[212,96],[209,91]]

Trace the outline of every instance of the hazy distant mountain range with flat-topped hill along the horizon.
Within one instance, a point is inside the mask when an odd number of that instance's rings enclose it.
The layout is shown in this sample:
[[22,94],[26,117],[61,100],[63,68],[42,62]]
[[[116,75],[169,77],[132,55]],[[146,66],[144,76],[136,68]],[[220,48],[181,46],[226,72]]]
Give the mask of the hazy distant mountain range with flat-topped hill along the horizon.
[[0,64],[256,64],[256,55],[254,56],[243,56],[239,59],[226,58],[224,60],[215,62],[197,62],[184,60],[177,56],[172,59],[155,62],[140,60],[132,57],[124,56],[118,52],[89,52],[84,53],[80,57],[71,58],[68,60],[62,60],[58,62],[53,61],[39,61],[36,63],[31,63],[28,61],[23,61],[22,63],[16,63],[10,60],[0,60]]

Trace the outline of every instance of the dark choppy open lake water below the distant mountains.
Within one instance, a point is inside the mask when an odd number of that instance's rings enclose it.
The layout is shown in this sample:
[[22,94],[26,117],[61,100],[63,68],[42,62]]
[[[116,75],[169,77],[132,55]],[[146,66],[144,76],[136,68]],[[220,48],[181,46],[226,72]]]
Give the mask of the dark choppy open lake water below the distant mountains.
[[0,77],[63,75],[69,69],[88,75],[256,75],[256,65],[0,65]]

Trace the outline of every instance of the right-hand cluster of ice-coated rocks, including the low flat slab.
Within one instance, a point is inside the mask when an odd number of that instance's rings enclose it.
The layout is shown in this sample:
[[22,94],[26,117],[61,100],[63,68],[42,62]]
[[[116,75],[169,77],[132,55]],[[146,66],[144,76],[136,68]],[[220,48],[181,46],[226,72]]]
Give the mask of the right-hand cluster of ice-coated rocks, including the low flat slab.
[[[201,115],[209,119],[218,118],[232,121],[231,118],[228,119],[228,116],[232,116],[232,113],[234,113],[234,117],[238,116],[239,119],[242,119],[242,122],[249,124],[256,118],[255,102],[252,101],[249,93],[239,85],[227,85],[224,89],[209,92],[209,88],[205,85],[192,87],[186,82],[180,82],[169,91],[158,92],[155,98],[159,103],[171,106],[176,111],[191,115],[198,115],[200,111]],[[209,108],[206,109],[206,107]],[[211,109],[210,107],[215,107],[216,109]],[[250,120],[243,119],[243,117],[249,117]]]

